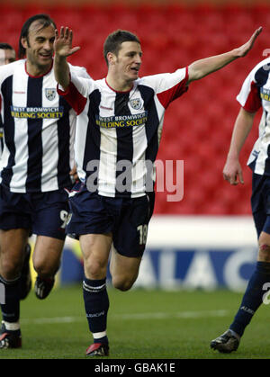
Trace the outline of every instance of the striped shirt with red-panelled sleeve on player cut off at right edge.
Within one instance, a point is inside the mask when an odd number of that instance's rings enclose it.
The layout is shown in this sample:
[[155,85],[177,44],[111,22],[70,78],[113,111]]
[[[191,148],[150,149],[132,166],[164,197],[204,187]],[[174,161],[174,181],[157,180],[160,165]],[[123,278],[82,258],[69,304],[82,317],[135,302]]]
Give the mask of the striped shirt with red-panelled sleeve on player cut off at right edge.
[[257,112],[263,108],[259,122],[259,136],[252,148],[247,165],[257,175],[270,175],[270,58],[257,64],[247,76],[238,103],[247,112]]

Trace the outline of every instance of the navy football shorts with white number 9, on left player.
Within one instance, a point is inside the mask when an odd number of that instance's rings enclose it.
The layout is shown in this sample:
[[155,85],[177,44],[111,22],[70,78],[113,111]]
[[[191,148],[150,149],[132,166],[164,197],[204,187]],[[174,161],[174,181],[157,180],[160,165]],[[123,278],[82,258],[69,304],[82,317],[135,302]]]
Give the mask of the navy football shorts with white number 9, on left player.
[[38,236],[64,240],[68,211],[65,189],[11,193],[0,185],[0,229],[29,229]]

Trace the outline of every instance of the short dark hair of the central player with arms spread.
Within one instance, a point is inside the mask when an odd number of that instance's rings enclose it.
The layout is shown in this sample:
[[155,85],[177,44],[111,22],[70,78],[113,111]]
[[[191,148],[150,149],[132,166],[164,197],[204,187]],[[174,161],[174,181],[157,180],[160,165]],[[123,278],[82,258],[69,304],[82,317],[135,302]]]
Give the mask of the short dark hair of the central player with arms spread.
[[117,55],[119,50],[121,49],[122,42],[138,42],[140,44],[137,35],[133,34],[130,31],[120,29],[113,31],[108,35],[103,44],[103,57],[106,60],[107,66],[109,65],[107,59],[108,52],[112,52],[113,54]]

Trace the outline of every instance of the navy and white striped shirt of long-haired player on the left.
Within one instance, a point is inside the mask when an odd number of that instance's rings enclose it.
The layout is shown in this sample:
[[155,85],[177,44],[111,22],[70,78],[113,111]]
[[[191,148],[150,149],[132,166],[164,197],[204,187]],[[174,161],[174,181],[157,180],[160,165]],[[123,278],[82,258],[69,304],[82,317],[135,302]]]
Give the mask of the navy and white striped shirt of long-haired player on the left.
[[[89,77],[83,67],[70,69]],[[31,76],[24,59],[0,67],[0,105],[2,184],[14,193],[48,192],[70,185],[76,112],[58,95],[53,69]]]

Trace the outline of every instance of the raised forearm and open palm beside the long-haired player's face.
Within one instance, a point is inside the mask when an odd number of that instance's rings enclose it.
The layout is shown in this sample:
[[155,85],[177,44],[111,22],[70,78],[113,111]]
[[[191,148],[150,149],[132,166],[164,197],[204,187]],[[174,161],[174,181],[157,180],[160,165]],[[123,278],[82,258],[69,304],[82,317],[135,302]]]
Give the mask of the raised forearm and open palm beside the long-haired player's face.
[[55,31],[55,40],[54,40],[54,75],[59,85],[61,85],[64,90],[67,89],[67,86],[70,82],[69,67],[67,64],[67,57],[74,54],[79,47],[72,48],[72,39],[73,32],[68,28],[63,26],[60,29]]

